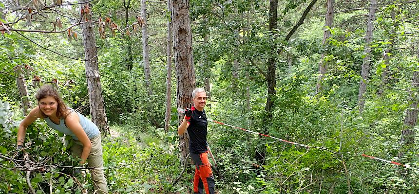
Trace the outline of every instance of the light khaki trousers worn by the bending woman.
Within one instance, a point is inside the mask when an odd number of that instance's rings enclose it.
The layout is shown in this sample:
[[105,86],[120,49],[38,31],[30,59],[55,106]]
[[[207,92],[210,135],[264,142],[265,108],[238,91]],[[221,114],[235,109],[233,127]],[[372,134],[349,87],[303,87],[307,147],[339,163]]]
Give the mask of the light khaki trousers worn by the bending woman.
[[[89,156],[87,157],[87,166],[91,168],[103,168],[102,158],[102,142],[100,134],[90,140],[92,142],[92,149],[90,150]],[[83,152],[83,144],[75,140],[74,145],[71,147],[71,152],[81,157]],[[108,194],[108,185],[106,184],[105,176],[103,175],[102,169],[89,169],[90,175],[92,176],[93,187],[95,188],[96,194]]]

